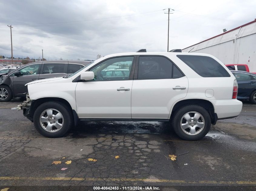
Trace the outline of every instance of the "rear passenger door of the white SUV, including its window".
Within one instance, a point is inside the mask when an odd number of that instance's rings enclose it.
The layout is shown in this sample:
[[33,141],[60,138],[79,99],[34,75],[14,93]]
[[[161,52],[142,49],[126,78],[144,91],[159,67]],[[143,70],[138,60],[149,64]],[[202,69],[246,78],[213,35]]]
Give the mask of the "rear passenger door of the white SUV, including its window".
[[168,119],[172,104],[186,97],[188,78],[164,56],[138,56],[131,91],[132,119]]

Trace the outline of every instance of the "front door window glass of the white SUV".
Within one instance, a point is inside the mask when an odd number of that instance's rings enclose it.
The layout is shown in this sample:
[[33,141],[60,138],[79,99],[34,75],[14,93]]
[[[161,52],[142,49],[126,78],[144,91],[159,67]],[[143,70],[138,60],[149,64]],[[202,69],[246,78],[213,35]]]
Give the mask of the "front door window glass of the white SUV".
[[92,81],[128,80],[134,56],[117,57],[105,60],[91,68],[95,78]]

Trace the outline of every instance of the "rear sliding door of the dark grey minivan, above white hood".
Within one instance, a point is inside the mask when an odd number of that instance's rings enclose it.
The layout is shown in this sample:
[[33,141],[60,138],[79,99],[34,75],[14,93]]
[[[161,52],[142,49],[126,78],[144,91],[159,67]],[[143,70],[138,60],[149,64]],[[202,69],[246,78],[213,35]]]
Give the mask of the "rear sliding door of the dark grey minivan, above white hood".
[[68,63],[43,63],[42,72],[39,75],[39,79],[66,76],[67,71]]

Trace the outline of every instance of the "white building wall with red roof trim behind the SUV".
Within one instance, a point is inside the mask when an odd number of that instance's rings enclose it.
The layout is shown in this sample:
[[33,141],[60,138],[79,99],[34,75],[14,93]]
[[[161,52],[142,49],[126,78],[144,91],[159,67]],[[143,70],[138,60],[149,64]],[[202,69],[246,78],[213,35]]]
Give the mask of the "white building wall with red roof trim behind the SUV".
[[256,22],[182,50],[189,51],[211,54],[224,64],[247,64],[256,72]]

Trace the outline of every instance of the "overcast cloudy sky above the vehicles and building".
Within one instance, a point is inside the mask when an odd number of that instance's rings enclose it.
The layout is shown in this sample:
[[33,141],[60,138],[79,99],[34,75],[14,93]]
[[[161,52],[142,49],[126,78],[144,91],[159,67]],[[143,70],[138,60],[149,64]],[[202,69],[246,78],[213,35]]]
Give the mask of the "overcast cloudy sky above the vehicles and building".
[[[97,54],[183,49],[256,18],[256,0],[2,0],[0,55],[96,59]],[[165,10],[163,10],[165,9]]]

